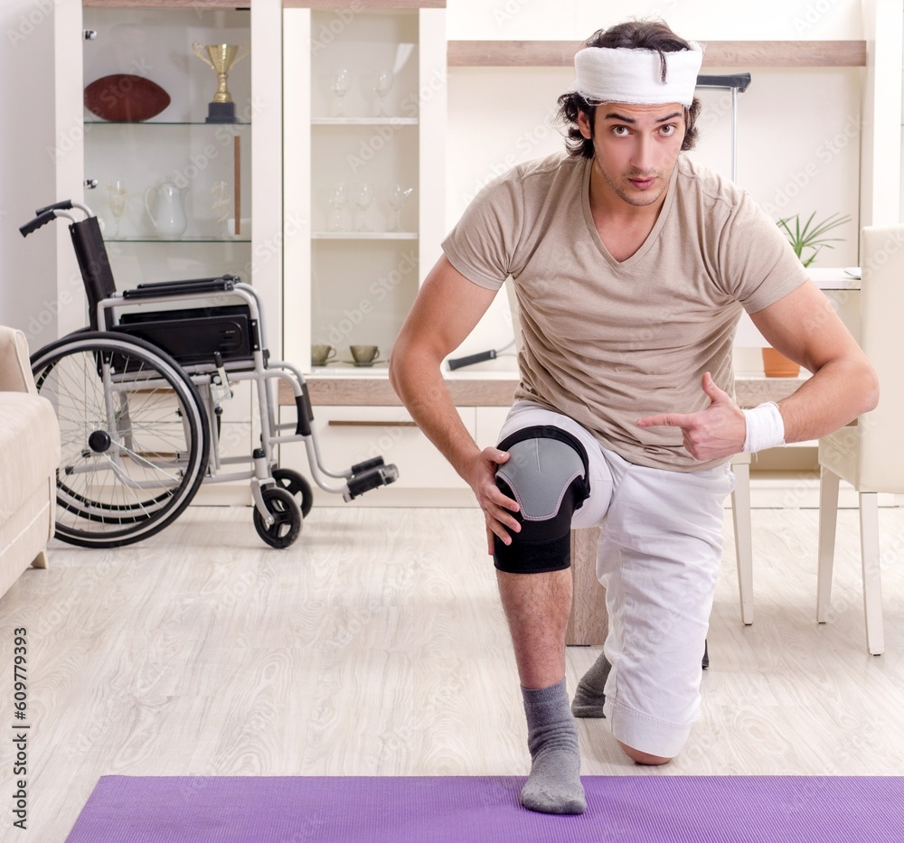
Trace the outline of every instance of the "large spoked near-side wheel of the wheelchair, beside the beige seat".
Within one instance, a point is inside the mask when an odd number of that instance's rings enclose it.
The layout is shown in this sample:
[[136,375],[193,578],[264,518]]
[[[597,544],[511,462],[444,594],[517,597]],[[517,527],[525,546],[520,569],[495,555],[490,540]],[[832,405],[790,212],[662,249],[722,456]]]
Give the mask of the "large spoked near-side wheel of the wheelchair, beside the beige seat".
[[201,398],[178,363],[149,342],[86,332],[36,351],[32,371],[60,420],[57,537],[116,548],[176,519],[210,451]]

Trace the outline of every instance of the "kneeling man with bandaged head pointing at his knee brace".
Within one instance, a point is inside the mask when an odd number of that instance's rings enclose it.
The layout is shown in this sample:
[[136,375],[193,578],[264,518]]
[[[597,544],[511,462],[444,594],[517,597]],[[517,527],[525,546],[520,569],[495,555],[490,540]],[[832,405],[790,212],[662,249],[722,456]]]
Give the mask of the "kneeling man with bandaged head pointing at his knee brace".
[[[572,712],[606,717],[637,763],[666,763],[687,738],[730,456],[815,439],[878,400],[868,361],[776,224],[681,155],[701,61],[664,23],[596,33],[560,98],[569,154],[519,166],[471,203],[392,351],[394,388],[485,513],[532,810],[585,809]],[[481,452],[440,364],[507,276],[521,308],[521,383],[499,447]],[[742,309],[813,372],[778,406],[742,411],[731,398]],[[609,630],[570,710],[570,528],[604,516]]]

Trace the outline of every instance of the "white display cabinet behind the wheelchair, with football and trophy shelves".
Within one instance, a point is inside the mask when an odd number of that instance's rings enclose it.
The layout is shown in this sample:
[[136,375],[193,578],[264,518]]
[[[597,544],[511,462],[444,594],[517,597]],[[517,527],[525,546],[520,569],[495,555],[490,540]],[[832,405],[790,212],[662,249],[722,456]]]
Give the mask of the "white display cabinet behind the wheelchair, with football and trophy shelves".
[[[67,3],[56,15],[58,195],[35,197],[35,204],[84,201],[99,218],[120,289],[240,276],[258,288],[269,350],[282,357],[282,57],[273,49],[281,40],[280,5],[86,0],[78,13]],[[195,55],[193,42],[248,49],[228,73],[237,122],[207,122],[218,79]],[[153,81],[169,104],[141,121],[99,116],[85,107],[84,90],[112,74]],[[125,86],[112,89],[114,96],[128,94],[130,83]],[[117,183],[125,191],[119,220],[111,190]],[[68,305],[61,308],[58,330],[68,333],[84,326],[87,314],[62,225],[56,248],[58,298]],[[255,416],[249,389],[237,389],[224,406],[223,455],[250,453],[259,427]],[[196,501],[247,497],[242,483],[205,488]]]

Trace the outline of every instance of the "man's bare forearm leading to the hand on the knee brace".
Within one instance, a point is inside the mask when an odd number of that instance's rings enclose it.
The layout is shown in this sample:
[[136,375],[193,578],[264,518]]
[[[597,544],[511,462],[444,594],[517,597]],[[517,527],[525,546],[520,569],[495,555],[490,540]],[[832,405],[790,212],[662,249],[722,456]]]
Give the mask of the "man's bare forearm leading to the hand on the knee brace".
[[393,352],[390,381],[419,428],[467,479],[467,458],[479,454],[480,448],[458,415],[438,361],[425,361],[416,354],[396,357]]

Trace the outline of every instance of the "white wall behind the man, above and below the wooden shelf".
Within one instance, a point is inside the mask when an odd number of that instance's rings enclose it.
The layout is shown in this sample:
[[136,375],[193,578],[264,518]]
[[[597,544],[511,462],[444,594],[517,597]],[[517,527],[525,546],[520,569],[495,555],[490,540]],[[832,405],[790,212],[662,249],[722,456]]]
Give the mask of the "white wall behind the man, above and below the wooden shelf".
[[[737,11],[735,11],[737,9]],[[625,5],[604,0],[448,0],[448,37],[459,40],[586,39],[625,20]],[[823,11],[820,11],[823,10]],[[750,6],[715,0],[659,0],[631,5],[630,16],[658,15],[689,40],[860,39],[860,0],[765,0]],[[861,102],[859,68],[706,68],[749,70],[738,98],[738,182],[778,220],[795,213],[847,214],[843,242],[824,250],[823,267],[858,263]],[[553,114],[569,88],[565,68],[451,68],[447,149],[447,226],[479,186],[514,164],[560,151]],[[731,174],[730,95],[702,91],[700,141],[692,153]],[[462,353],[499,348],[511,339],[504,296],[462,346]],[[511,361],[483,364],[507,368]]]

